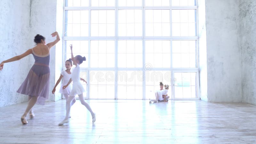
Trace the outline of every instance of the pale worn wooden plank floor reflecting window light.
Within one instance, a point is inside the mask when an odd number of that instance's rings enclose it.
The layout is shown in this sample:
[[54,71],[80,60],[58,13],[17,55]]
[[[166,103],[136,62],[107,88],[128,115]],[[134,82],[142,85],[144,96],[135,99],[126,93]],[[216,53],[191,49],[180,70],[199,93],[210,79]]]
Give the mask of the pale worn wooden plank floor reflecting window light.
[[79,100],[62,126],[65,100],[36,105],[36,117],[24,125],[27,103],[0,108],[0,143],[256,143],[256,106],[245,103],[86,101],[96,113],[94,124]]

